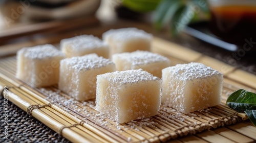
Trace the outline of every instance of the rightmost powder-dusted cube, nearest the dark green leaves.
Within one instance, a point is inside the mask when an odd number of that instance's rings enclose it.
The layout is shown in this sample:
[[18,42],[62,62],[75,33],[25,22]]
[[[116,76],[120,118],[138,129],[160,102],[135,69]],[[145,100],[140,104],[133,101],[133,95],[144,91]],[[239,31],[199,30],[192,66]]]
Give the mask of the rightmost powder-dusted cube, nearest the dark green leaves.
[[223,75],[201,63],[177,64],[162,70],[162,103],[182,113],[221,102]]

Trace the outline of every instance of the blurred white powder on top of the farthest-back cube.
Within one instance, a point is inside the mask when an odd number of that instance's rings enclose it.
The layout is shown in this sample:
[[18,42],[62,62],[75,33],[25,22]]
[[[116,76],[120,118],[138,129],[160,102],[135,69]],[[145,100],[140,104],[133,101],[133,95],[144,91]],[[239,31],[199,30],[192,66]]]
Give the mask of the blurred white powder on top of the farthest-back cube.
[[121,29],[111,29],[102,34],[103,40],[107,40],[109,37],[112,37],[116,40],[126,40],[126,39],[136,39],[136,38],[145,38],[152,39],[152,34],[146,33],[143,30],[137,28],[121,28]]

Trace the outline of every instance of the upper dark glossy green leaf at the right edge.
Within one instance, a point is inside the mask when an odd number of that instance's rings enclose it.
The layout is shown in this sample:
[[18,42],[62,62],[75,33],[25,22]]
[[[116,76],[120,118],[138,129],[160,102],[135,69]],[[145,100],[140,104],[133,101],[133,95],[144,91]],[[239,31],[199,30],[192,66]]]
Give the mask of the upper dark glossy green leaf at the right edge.
[[245,110],[256,110],[256,94],[239,89],[230,94],[227,99],[228,107],[243,112]]

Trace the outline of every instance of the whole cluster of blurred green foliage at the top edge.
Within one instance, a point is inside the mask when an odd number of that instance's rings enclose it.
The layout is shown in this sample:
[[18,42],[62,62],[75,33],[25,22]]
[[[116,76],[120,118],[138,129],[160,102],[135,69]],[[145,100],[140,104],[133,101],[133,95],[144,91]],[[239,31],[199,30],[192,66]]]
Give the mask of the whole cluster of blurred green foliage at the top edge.
[[154,12],[157,30],[168,26],[177,35],[190,22],[209,18],[207,0],[123,0],[123,5],[136,12]]

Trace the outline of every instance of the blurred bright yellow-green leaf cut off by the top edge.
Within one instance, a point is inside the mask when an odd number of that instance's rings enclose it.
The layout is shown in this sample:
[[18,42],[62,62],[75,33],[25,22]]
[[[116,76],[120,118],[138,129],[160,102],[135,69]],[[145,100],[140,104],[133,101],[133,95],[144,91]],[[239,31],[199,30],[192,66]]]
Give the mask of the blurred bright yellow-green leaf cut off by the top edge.
[[161,0],[123,0],[122,4],[137,12],[150,12],[156,9]]

